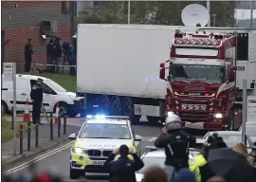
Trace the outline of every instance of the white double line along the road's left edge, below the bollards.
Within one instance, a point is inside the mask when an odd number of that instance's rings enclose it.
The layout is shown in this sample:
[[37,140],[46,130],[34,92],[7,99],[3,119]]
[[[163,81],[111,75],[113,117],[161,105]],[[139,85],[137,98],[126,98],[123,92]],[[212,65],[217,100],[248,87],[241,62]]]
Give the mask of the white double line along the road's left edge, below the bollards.
[[71,147],[73,145],[73,143],[74,143],[74,141],[71,141],[71,142],[65,144],[64,146],[61,146],[58,149],[54,149],[54,150],[52,150],[52,151],[50,151],[50,152],[48,152],[48,153],[46,153],[44,155],[40,155],[40,156],[37,156],[37,157],[35,157],[35,158],[31,159],[31,160],[28,160],[26,163],[21,164],[19,166],[16,166],[16,167],[14,167],[12,169],[9,169],[7,172],[2,173],[2,174],[3,175],[8,175],[10,173],[15,173],[15,172],[18,172],[18,171],[20,171],[22,169],[25,169],[30,164],[36,163],[36,162],[38,162],[40,160],[43,160],[44,158],[46,158],[46,157],[48,157],[50,155],[55,155],[56,153],[59,153],[59,152],[63,151],[64,149]]

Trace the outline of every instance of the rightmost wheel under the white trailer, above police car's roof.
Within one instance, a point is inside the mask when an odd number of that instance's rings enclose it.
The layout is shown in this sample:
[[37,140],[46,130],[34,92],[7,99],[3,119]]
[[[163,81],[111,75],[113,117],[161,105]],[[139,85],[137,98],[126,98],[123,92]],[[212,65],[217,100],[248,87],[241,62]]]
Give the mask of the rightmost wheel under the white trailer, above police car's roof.
[[122,101],[121,115],[129,117],[133,124],[137,124],[139,122],[139,118],[141,118],[141,116],[135,115],[134,103],[131,98],[125,98]]

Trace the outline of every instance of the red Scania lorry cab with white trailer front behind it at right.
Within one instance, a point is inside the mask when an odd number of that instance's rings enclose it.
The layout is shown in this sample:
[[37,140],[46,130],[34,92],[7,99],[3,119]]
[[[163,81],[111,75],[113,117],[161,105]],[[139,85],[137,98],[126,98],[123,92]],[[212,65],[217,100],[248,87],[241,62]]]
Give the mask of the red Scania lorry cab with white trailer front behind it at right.
[[176,29],[170,60],[160,64],[167,82],[165,116],[179,115],[185,128],[238,129],[243,80],[255,96],[256,31],[247,28]]

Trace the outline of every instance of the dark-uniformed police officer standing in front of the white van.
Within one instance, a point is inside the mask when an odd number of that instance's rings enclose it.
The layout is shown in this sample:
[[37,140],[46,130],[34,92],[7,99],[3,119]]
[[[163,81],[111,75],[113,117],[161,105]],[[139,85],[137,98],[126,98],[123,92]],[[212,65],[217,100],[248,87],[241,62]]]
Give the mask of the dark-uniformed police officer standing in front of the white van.
[[38,81],[32,85],[30,98],[33,101],[33,111],[32,111],[33,123],[40,124],[39,119],[40,119],[41,107],[43,102],[43,89],[42,89],[41,81]]

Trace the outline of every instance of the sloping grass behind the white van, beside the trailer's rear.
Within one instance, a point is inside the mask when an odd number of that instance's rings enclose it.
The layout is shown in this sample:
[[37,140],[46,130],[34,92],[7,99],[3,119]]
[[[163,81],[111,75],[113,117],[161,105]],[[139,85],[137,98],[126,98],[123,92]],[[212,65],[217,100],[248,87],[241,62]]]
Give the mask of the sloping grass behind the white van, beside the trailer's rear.
[[63,73],[29,73],[31,75],[36,75],[40,77],[46,77],[48,79],[51,79],[54,82],[58,82],[61,84],[64,89],[66,89],[69,92],[76,92],[77,90],[77,78],[75,76],[70,76],[67,71],[64,71]]

